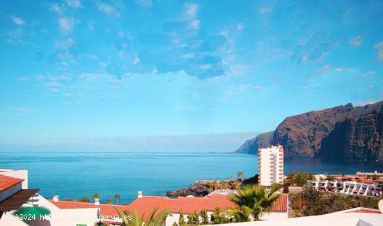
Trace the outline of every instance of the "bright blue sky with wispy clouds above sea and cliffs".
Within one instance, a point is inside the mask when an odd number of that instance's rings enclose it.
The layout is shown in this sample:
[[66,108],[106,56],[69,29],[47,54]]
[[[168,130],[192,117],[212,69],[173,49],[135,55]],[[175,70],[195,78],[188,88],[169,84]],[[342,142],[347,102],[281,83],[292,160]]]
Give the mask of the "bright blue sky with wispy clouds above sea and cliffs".
[[228,151],[289,115],[383,99],[382,1],[0,6],[3,150]]

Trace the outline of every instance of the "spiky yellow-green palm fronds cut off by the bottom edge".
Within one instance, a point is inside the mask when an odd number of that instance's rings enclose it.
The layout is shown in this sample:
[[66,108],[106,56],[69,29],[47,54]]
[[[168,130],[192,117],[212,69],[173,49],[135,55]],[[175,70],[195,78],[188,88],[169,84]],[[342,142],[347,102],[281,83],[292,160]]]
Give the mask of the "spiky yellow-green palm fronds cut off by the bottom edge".
[[171,211],[169,209],[164,209],[156,214],[158,207],[155,207],[152,211],[150,211],[146,221],[144,221],[143,218],[145,213],[140,217],[136,209],[133,209],[133,211],[120,211],[117,208],[114,209],[116,209],[118,216],[122,218],[123,225],[125,226],[158,226],[162,225],[162,223],[166,220],[166,217],[171,215]]

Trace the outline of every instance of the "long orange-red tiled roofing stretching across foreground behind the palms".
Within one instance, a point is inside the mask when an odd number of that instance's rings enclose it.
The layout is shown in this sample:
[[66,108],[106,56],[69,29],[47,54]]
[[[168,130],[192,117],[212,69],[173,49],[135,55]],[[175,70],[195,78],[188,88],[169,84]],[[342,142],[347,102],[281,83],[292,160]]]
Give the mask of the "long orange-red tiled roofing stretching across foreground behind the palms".
[[[197,213],[201,210],[214,211],[215,207],[220,207],[222,210],[228,207],[235,207],[233,202],[228,200],[228,195],[211,195],[210,197],[177,197],[169,198],[165,196],[150,196],[144,195],[141,198],[137,198],[127,206],[113,205],[113,204],[100,204],[95,206],[93,203],[88,202],[70,202],[70,201],[58,201],[53,202],[56,207],[60,209],[75,209],[75,208],[100,208],[100,214],[104,216],[116,216],[116,210],[121,211],[132,211],[136,209],[139,215],[148,216],[150,211],[154,207],[159,207],[158,211],[164,209],[170,209],[172,213],[178,213],[182,210],[184,213]],[[279,198],[272,205],[272,211],[275,212],[286,212],[287,211],[288,196],[280,195]]]

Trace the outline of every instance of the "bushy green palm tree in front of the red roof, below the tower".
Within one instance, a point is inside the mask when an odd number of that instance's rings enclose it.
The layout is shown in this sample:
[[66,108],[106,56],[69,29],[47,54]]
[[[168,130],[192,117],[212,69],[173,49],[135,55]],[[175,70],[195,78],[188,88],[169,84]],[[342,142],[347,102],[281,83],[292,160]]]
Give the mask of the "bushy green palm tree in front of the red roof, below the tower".
[[267,191],[263,186],[249,185],[244,188],[237,188],[237,194],[231,195],[228,200],[238,205],[236,208],[227,210],[228,216],[236,221],[259,220],[263,213],[272,210],[273,202],[279,197],[274,191]]

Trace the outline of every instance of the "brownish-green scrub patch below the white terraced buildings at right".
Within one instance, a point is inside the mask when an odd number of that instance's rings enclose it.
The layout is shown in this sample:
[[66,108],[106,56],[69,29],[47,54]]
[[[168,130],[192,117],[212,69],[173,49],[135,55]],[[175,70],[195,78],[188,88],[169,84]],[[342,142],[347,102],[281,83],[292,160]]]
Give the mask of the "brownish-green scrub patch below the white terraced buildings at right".
[[311,188],[289,197],[292,217],[322,215],[355,207],[377,209],[377,202],[380,198],[321,193]]

